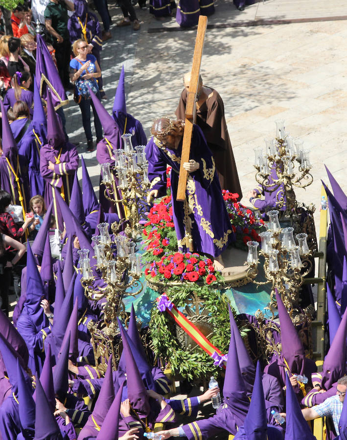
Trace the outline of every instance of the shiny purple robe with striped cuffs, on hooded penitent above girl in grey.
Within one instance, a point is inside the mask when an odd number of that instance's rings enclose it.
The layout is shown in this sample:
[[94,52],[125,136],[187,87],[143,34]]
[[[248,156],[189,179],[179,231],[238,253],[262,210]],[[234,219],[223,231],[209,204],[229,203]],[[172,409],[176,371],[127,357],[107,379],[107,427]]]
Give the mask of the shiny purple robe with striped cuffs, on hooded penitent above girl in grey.
[[[60,162],[58,162],[58,157]],[[48,169],[48,161],[53,162],[54,172]],[[50,146],[49,144],[46,144],[41,148],[40,172],[46,182],[46,206],[49,205],[53,198],[54,186],[60,190],[63,186],[65,201],[69,203],[73,177],[77,171],[78,162],[79,156],[77,149],[69,142],[66,142],[62,146],[56,148]]]

